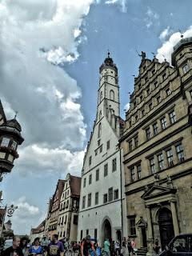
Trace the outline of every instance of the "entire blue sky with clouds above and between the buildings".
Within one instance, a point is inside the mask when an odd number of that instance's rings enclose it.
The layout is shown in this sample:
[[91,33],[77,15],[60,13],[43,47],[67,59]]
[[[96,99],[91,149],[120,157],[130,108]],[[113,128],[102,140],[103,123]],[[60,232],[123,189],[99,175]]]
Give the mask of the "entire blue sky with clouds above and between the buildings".
[[15,234],[46,218],[58,178],[81,174],[107,50],[125,118],[137,51],[170,62],[179,30],[192,36],[189,10],[191,0],[0,0],[0,99],[7,118],[18,111],[25,138],[0,184],[2,206],[18,206]]

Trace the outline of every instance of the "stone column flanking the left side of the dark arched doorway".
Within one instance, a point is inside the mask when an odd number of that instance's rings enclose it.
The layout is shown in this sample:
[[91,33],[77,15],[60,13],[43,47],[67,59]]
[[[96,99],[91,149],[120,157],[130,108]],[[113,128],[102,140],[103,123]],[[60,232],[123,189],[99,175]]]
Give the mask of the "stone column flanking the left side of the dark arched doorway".
[[146,206],[146,218],[147,218],[147,256],[151,256],[153,253],[153,227],[150,215],[150,206]]

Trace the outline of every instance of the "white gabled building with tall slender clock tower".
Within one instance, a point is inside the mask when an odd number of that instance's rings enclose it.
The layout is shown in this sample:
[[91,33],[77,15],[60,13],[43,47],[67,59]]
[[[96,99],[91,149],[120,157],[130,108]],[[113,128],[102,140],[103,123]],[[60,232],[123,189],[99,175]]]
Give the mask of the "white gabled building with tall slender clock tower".
[[[122,152],[118,148],[124,122],[120,115],[118,68],[108,57],[99,69],[98,107],[82,168],[78,240],[90,234],[104,238],[126,236],[126,201]],[[123,229],[122,229],[123,226]]]

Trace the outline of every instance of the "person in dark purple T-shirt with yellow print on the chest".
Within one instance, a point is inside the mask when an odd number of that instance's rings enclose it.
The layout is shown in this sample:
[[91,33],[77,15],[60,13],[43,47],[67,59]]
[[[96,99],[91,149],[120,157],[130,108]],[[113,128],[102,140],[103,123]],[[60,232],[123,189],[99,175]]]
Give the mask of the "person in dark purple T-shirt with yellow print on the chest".
[[47,246],[45,255],[64,256],[64,247],[62,242],[58,241],[58,234],[53,234],[52,242]]

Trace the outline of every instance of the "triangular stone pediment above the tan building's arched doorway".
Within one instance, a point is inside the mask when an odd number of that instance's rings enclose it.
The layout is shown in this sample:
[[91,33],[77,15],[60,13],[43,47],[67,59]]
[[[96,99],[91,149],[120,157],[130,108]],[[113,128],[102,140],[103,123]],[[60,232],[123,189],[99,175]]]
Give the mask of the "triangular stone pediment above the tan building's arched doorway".
[[142,194],[142,199],[149,199],[149,198],[156,198],[163,194],[175,194],[176,190],[165,187],[165,186],[159,186],[154,184],[154,186],[150,187],[144,194]]

